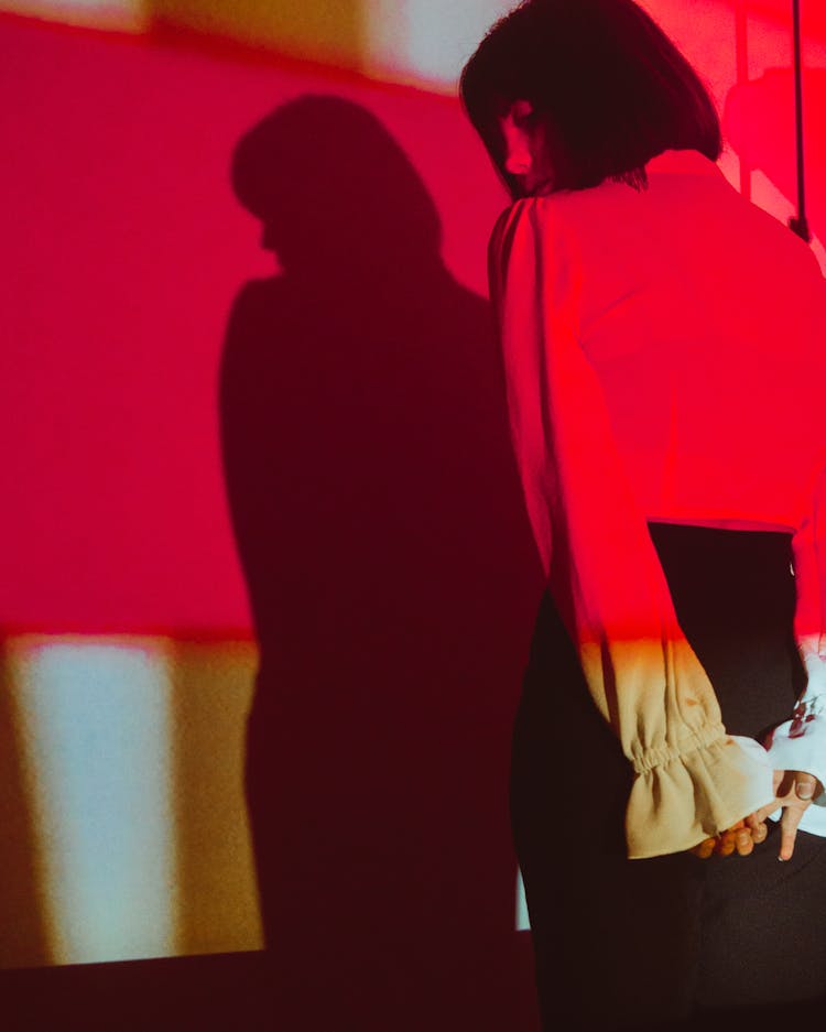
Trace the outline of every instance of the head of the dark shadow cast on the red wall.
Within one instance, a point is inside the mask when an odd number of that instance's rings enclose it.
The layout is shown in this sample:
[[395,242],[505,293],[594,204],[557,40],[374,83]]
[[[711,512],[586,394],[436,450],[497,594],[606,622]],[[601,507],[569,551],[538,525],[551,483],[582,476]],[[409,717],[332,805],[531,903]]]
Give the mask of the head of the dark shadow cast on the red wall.
[[340,97],[276,108],[238,142],[231,174],[286,272],[379,264],[388,251],[438,254],[438,215],[410,160],[373,115]]

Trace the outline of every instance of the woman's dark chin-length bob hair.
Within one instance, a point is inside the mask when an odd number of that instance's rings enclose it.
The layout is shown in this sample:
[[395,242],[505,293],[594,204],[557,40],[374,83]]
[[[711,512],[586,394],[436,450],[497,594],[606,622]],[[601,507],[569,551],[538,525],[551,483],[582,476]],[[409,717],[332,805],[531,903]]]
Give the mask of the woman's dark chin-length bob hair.
[[633,0],[524,0],[498,21],[465,65],[465,110],[511,196],[497,117],[528,100],[550,142],[553,189],[605,180],[638,188],[663,151],[716,161],[722,140],[697,73]]

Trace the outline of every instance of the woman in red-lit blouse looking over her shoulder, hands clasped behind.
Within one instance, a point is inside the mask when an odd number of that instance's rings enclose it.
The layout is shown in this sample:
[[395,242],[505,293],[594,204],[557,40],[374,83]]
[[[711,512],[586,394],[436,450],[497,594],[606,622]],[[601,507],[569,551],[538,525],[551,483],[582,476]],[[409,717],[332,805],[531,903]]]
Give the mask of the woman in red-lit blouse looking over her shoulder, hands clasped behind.
[[815,999],[819,268],[632,0],[526,0],[461,97],[514,202],[490,286],[548,583],[512,765],[543,1026]]

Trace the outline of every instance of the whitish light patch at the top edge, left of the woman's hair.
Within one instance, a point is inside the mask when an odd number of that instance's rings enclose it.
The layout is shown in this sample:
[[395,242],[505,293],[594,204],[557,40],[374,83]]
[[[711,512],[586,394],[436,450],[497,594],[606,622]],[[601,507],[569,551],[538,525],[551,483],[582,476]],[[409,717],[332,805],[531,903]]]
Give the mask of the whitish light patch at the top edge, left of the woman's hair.
[[461,67],[514,0],[363,0],[370,69],[453,91]]

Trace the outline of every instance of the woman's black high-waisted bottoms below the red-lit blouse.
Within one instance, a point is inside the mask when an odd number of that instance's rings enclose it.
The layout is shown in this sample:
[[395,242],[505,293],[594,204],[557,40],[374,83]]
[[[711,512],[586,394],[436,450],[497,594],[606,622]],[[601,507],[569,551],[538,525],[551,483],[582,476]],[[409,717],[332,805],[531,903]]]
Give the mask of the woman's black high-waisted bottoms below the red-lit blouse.
[[[791,537],[651,524],[681,626],[729,732],[789,718],[805,677],[792,633]],[[702,1024],[720,1008],[826,993],[826,839],[778,833],[750,857],[628,860],[631,768],[588,694],[550,599],[517,714],[513,836],[525,883],[543,1029]],[[823,1015],[826,1014],[824,1010]],[[742,1017],[746,1017],[743,1013]],[[711,1022],[713,1023],[713,1022]]]

